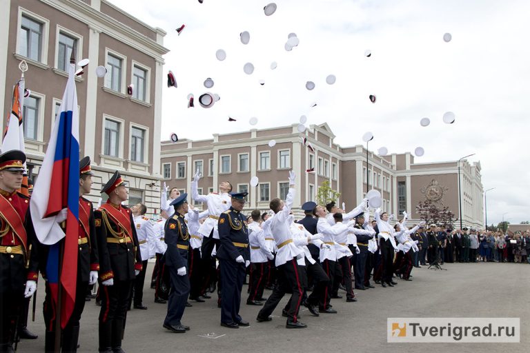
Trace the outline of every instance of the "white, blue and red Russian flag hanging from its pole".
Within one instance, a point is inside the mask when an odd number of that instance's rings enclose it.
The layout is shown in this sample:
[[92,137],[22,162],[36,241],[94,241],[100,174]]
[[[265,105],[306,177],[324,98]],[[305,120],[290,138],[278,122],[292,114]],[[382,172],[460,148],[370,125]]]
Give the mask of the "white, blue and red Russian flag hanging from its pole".
[[[46,274],[57,317],[61,289],[61,327],[65,327],[75,305],[77,281],[77,236],[79,232],[79,114],[75,88],[75,63],[70,63],[68,83],[53,125],[48,149],[30,200],[35,233],[50,246]],[[68,210],[66,232],[56,216]],[[61,241],[65,238],[64,241]],[[61,265],[59,271],[59,265]],[[59,275],[60,274],[60,275]]]

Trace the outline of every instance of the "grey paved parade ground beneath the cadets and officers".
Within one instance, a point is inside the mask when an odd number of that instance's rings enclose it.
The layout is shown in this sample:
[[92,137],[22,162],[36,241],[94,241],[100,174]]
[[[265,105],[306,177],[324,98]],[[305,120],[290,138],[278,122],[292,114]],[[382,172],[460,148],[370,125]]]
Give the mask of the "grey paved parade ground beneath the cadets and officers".
[[[149,264],[150,274],[153,264]],[[186,334],[161,327],[166,305],[153,303],[154,291],[146,283],[148,310],[128,313],[123,344],[135,352],[528,352],[530,343],[530,265],[514,263],[446,264],[447,271],[415,268],[413,281],[397,280],[395,288],[357,291],[357,303],[333,299],[338,314],[313,317],[302,312],[303,330],[286,330],[285,318],[275,311],[273,321],[257,323],[259,307],[242,305],[242,317],[251,322],[244,329],[219,325],[220,313],[213,299],[186,308]],[[42,282],[41,282],[42,283]],[[246,300],[246,285],[243,288]],[[266,291],[265,295],[268,295]],[[19,352],[43,352],[41,315],[43,286],[39,285],[37,318],[29,324],[39,334],[36,341],[22,341]],[[282,301],[282,305],[286,299]],[[88,302],[81,321],[79,352],[97,352],[99,307]],[[520,317],[522,343],[386,343],[387,317]],[[210,336],[210,337],[208,337]],[[216,337],[216,338],[213,338]]]

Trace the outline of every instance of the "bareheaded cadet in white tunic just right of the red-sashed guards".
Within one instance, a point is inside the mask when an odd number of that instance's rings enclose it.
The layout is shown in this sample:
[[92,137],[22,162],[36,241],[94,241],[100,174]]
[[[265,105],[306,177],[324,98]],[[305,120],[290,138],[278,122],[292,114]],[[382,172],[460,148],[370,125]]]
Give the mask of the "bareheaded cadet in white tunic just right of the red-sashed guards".
[[135,221],[136,234],[138,236],[138,243],[141,254],[141,271],[136,276],[135,284],[133,286],[134,307],[135,309],[146,310],[147,307],[142,303],[144,299],[144,282],[146,280],[147,261],[150,258],[149,243],[154,243],[156,240],[155,230],[151,221],[144,216],[147,212],[146,205],[137,203],[130,208],[133,213],[133,220]]

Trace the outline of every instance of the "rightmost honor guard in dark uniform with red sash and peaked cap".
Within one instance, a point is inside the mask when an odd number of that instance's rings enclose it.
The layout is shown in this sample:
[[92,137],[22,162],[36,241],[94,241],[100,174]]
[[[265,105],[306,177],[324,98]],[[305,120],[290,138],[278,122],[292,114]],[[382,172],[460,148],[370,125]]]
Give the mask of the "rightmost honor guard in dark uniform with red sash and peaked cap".
[[123,353],[121,338],[133,280],[141,271],[141,255],[133,214],[121,205],[128,192],[118,171],[101,192],[108,194],[108,201],[94,211],[101,298],[99,352]]

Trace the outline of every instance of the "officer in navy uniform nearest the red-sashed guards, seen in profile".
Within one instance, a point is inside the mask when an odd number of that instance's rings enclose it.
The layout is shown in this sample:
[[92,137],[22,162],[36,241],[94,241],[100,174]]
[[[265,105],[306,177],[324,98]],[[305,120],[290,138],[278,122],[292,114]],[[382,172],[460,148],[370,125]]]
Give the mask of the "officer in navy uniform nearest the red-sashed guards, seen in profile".
[[170,203],[175,208],[175,214],[166,221],[164,227],[164,241],[168,244],[164,256],[171,277],[171,290],[163,326],[175,333],[190,330],[189,326],[182,325],[180,321],[190,294],[190,279],[187,276],[190,233],[184,221],[184,215],[188,212],[187,198],[188,194],[182,193]]

